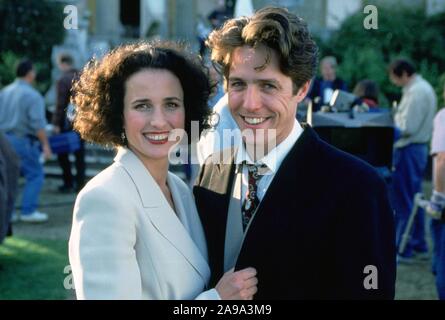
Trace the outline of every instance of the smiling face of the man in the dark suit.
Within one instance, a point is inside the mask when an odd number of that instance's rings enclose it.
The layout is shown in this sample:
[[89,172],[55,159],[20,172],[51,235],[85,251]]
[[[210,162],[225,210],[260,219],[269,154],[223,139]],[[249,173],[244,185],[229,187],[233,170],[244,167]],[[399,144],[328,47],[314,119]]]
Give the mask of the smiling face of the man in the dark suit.
[[293,128],[297,104],[304,99],[309,84],[294,94],[292,80],[280,71],[274,50],[264,46],[236,48],[227,82],[228,102],[240,130],[254,133],[245,137],[246,144],[267,147],[271,129],[276,130],[276,144],[280,144]]

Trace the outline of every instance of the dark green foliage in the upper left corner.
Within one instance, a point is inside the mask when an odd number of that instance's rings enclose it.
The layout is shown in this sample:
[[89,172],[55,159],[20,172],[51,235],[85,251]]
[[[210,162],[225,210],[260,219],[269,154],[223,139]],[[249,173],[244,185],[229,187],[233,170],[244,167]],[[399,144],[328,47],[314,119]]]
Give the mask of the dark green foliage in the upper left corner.
[[[36,63],[39,89],[45,90],[51,78],[51,50],[65,35],[63,5],[50,0],[0,0],[0,77],[5,84],[14,74],[11,57],[26,57]],[[13,59],[12,59],[13,60]]]

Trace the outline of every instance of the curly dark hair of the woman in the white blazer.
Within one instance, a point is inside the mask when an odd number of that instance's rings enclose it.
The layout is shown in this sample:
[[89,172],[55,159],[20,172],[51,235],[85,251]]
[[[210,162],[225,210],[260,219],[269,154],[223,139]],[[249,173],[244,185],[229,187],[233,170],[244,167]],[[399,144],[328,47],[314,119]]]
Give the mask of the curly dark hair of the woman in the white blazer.
[[199,121],[200,133],[208,128],[210,82],[202,62],[179,43],[140,42],[120,46],[100,61],[90,61],[74,82],[74,129],[83,139],[106,146],[125,145],[121,139],[125,81],[142,69],[165,69],[179,79],[189,139],[191,121]]

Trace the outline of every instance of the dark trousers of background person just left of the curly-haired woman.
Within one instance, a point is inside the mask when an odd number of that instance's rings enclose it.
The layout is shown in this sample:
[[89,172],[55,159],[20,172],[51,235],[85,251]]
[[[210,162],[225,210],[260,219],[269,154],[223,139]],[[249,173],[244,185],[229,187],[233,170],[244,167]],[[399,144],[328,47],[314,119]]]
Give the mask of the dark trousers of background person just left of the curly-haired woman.
[[[80,189],[85,183],[85,143],[80,141],[79,150],[75,151],[75,167],[76,167],[76,188]],[[62,169],[63,185],[66,187],[73,187],[73,174],[71,172],[71,161],[69,153],[60,153],[57,155],[60,168]]]

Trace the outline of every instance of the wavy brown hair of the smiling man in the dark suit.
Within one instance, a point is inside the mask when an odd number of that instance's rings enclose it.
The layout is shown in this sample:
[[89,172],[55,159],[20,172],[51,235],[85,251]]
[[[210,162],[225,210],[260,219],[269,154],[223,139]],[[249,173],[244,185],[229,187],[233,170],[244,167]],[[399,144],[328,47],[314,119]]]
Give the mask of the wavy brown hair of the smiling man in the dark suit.
[[[265,45],[275,50],[281,72],[292,79],[294,93],[312,79],[318,64],[318,47],[306,22],[284,8],[266,7],[252,17],[231,19],[213,31],[206,43],[212,51],[212,61],[219,65],[226,80],[236,48]],[[270,56],[260,67],[269,61]]]

